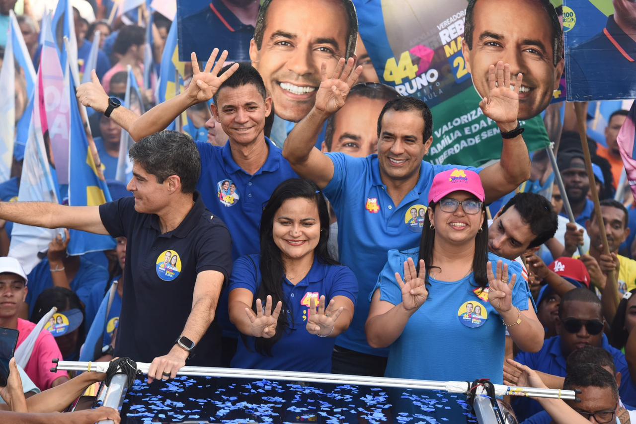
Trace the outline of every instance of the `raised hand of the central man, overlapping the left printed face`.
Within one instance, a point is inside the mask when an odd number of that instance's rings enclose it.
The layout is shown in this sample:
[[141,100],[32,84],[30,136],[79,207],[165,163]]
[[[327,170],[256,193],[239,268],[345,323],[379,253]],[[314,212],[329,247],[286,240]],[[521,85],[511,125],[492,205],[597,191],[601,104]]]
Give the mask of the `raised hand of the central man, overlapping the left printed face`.
[[350,57],[349,60],[345,61],[345,58],[341,57],[336,69],[328,76],[327,64],[322,62],[320,67],[321,84],[316,92],[315,101],[315,108],[318,111],[332,114],[345,106],[345,100],[347,100],[351,87],[356,84],[362,73],[362,66],[354,69],[355,64],[354,58]]

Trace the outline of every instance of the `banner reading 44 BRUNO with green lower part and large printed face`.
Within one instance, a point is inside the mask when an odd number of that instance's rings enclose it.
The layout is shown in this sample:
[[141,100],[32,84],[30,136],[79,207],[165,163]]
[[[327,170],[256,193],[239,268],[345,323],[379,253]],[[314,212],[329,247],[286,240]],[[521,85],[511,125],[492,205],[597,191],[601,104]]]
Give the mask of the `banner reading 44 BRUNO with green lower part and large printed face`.
[[431,107],[429,161],[481,165],[499,158],[499,129],[478,106],[487,97],[488,67],[499,60],[510,64],[512,74],[523,73],[518,117],[529,149],[548,145],[538,115],[553,100],[563,74],[560,23],[553,7],[480,0],[467,13],[466,0],[354,3],[380,81]]

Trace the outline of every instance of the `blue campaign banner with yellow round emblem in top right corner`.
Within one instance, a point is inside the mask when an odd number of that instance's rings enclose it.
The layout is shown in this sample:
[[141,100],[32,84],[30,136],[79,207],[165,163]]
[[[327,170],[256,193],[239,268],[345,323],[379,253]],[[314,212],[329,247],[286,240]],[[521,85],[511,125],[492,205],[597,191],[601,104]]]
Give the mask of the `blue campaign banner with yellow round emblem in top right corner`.
[[636,97],[635,1],[565,0],[563,31],[567,100]]

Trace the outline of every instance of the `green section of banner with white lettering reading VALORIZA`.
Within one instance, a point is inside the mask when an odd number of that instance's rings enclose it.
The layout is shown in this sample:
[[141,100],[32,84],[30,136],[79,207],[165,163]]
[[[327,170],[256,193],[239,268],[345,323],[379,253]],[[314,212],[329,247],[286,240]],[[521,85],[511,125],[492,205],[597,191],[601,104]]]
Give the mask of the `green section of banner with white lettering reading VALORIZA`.
[[[501,158],[503,140],[499,128],[484,116],[480,97],[471,86],[431,109],[433,143],[425,160],[434,163],[480,166]],[[457,111],[467,111],[458,115]],[[522,121],[523,140],[529,151],[550,144],[541,116]]]

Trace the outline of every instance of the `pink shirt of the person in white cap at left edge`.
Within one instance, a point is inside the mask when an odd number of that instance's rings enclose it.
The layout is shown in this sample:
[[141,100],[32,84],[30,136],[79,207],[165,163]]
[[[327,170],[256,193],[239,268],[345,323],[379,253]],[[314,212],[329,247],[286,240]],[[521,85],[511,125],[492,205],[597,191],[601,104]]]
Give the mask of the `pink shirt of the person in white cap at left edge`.
[[[18,331],[20,332],[18,336],[18,346],[22,345],[22,342],[31,334],[35,326],[36,325],[31,321],[18,318]],[[51,360],[55,358],[62,360],[60,348],[57,347],[53,335],[46,330],[42,330],[31,353],[31,359],[29,359],[27,366],[24,367],[27,376],[31,378],[33,383],[35,383],[40,390],[51,388],[53,381],[60,377],[69,376],[66,371],[51,372],[51,368],[53,367]]]

